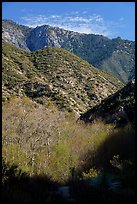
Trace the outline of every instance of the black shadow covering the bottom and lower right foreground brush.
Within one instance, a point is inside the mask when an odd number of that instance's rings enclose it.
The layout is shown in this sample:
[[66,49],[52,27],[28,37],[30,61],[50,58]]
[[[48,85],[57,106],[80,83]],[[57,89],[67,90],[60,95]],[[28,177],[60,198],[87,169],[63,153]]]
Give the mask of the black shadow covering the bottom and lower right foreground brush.
[[[88,156],[87,156],[88,154]],[[119,155],[119,157],[117,157]],[[96,150],[86,153],[85,163],[79,169],[72,169],[71,177],[63,185],[53,182],[47,175],[29,176],[18,166],[3,161],[2,199],[3,201],[35,202],[135,202],[135,132],[129,124],[114,129]],[[83,172],[96,168],[97,178],[102,176],[99,185],[91,185],[92,177],[83,177]],[[103,169],[103,170],[102,170]],[[101,171],[101,174],[98,173]],[[95,172],[95,173],[96,173]],[[86,173],[88,175],[88,173]],[[92,176],[92,175],[91,175]],[[121,188],[111,188],[113,182],[120,181]],[[109,177],[112,177],[112,182]],[[108,181],[112,184],[108,184]],[[59,195],[59,187],[69,188],[71,201]]]

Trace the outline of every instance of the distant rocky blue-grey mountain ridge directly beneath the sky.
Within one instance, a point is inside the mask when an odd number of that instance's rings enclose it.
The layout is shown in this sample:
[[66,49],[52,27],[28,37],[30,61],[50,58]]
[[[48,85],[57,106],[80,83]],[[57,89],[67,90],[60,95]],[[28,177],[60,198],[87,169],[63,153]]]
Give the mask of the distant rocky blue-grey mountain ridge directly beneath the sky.
[[47,46],[64,48],[98,69],[127,83],[135,76],[135,42],[102,35],[80,34],[48,25],[28,28],[2,21],[3,39],[27,51]]

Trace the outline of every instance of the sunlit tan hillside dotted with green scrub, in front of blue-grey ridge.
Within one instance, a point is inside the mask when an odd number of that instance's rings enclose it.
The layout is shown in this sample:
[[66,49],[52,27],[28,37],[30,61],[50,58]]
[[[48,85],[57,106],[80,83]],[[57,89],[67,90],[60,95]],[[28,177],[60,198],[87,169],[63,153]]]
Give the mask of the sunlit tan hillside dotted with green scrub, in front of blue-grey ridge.
[[80,114],[123,86],[62,48],[28,53],[5,42],[2,48],[3,100],[27,95],[38,103],[51,101],[60,109]]

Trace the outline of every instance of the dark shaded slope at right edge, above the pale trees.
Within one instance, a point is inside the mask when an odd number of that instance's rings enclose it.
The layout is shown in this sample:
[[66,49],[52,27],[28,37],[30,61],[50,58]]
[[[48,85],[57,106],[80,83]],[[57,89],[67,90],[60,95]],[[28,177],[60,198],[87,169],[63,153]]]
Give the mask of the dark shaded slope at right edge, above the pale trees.
[[93,122],[102,119],[107,123],[124,125],[135,120],[135,80],[104,99],[99,105],[82,114],[81,120]]

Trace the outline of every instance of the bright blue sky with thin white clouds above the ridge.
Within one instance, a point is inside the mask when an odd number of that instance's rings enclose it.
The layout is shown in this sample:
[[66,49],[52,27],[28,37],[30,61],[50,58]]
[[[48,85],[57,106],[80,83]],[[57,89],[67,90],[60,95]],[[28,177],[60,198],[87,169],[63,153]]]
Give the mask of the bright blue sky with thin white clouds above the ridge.
[[135,40],[134,2],[3,2],[2,18]]

